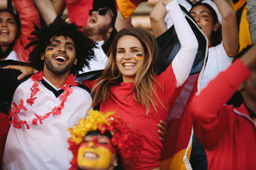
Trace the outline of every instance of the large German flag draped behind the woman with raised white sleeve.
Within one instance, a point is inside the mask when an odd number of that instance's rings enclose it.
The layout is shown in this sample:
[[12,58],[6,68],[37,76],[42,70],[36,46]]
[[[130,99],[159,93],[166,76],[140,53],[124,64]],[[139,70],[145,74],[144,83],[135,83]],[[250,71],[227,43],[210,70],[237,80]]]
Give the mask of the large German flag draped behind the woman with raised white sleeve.
[[[160,169],[164,170],[191,169],[189,157],[192,146],[193,128],[192,119],[187,112],[186,106],[190,102],[190,96],[200,91],[200,81],[208,56],[208,39],[206,35],[203,34],[190,13],[182,6],[181,9],[197,37],[199,46],[189,77],[169,113],[167,121],[169,130],[163,143],[160,164]],[[161,56],[158,69],[158,74],[160,74],[170,65],[177,52],[180,50],[181,45],[180,41],[178,41],[174,26],[156,39]]]

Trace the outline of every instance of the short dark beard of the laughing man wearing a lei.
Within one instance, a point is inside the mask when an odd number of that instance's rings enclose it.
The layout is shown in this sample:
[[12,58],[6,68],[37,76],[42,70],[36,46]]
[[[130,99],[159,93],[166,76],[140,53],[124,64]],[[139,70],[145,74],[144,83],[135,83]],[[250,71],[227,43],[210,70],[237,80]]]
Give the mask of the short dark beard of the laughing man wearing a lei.
[[67,73],[71,67],[74,64],[74,60],[70,63],[68,63],[68,65],[66,65],[66,67],[64,68],[60,68],[60,67],[55,67],[53,66],[52,62],[50,60],[48,60],[47,58],[45,58],[45,65],[46,67],[50,70],[50,72],[52,72],[54,75],[62,75]]

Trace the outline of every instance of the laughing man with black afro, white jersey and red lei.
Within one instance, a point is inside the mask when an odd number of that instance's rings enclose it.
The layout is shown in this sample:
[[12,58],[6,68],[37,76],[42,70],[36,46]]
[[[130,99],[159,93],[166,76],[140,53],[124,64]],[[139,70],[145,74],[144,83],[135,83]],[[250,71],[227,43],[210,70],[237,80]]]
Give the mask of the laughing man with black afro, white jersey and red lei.
[[92,103],[73,75],[94,58],[95,43],[79,29],[60,17],[35,26],[27,48],[35,46],[29,61],[39,72],[17,80],[18,70],[0,69],[0,112],[11,118],[3,169],[69,168],[66,127],[84,118]]

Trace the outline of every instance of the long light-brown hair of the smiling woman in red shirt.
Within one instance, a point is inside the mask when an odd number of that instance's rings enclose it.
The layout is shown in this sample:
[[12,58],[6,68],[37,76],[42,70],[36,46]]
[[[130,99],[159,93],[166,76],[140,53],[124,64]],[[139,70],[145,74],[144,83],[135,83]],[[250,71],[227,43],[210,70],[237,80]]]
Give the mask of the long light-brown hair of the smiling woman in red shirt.
[[110,56],[107,66],[103,74],[97,79],[97,82],[92,88],[92,94],[94,96],[92,107],[107,101],[110,87],[118,86],[118,83],[122,82],[122,75],[117,67],[116,54],[117,43],[119,39],[126,35],[136,37],[140,43],[142,43],[145,50],[142,67],[138,69],[134,79],[134,98],[136,102],[142,104],[146,108],[146,114],[148,114],[150,110],[150,104],[152,104],[153,108],[157,111],[157,107],[159,107],[159,105],[154,100],[153,95],[156,96],[158,102],[162,107],[164,107],[162,101],[159,99],[157,92],[153,88],[153,82],[155,81],[162,89],[159,82],[155,79],[153,70],[154,64],[157,61],[159,55],[157,41],[150,33],[138,28],[124,29],[120,31],[113,39],[112,45],[110,47]]

